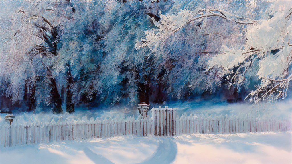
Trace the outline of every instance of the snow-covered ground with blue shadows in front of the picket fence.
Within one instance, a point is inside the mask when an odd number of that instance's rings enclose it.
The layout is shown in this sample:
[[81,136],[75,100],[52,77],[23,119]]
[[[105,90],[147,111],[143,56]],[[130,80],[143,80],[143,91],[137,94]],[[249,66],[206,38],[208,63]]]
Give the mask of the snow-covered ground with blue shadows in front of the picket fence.
[[292,162],[292,132],[113,137],[0,150],[0,163],[281,163]]

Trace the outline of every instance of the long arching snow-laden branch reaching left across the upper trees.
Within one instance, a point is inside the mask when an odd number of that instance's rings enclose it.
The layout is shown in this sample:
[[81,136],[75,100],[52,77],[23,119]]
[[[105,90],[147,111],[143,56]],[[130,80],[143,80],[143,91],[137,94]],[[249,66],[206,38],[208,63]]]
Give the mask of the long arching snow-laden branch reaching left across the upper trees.
[[181,10],[177,15],[160,14],[160,21],[155,22],[155,25],[159,29],[151,29],[145,31],[146,39],[142,39],[142,42],[137,41],[135,47],[139,48],[148,46],[150,48],[154,48],[153,45],[156,44],[158,41],[159,43],[163,43],[168,39],[169,36],[179,31],[190,22],[211,16],[221,17],[223,19],[231,20],[244,25],[257,23],[257,21],[255,20],[239,17],[237,15],[228,13],[227,11],[220,11],[218,9],[206,10],[197,8],[194,11]]

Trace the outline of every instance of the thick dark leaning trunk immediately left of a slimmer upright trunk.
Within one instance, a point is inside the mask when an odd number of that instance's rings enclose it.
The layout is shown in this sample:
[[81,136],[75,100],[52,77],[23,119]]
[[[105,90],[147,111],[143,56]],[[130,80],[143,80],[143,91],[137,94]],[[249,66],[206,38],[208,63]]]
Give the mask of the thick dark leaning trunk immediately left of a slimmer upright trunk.
[[50,94],[52,96],[53,102],[53,114],[60,114],[63,113],[63,109],[61,107],[62,100],[58,93],[57,84],[55,79],[52,77],[51,71],[47,67],[47,76],[49,78],[49,85],[51,86]]

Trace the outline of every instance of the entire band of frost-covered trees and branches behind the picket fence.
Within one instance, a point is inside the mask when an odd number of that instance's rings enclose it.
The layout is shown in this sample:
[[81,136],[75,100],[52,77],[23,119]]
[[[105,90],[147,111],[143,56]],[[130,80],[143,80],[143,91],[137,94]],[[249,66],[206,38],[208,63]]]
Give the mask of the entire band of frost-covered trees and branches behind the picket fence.
[[289,0],[27,0],[0,7],[1,101],[29,110],[133,105],[141,93],[150,102],[202,94],[249,94],[259,102],[284,98],[291,80]]

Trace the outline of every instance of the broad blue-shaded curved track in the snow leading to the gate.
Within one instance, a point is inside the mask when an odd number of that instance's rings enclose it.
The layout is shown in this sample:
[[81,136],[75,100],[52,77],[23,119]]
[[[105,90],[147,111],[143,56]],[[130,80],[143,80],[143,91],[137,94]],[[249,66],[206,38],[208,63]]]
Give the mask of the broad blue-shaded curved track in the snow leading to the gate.
[[159,139],[159,145],[156,151],[149,159],[145,160],[141,164],[153,164],[153,163],[171,163],[175,159],[177,153],[177,145],[173,142],[172,138]]

